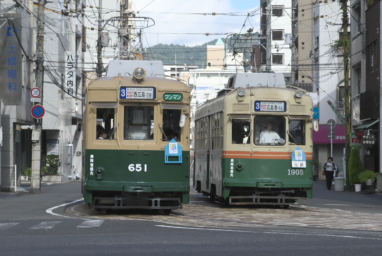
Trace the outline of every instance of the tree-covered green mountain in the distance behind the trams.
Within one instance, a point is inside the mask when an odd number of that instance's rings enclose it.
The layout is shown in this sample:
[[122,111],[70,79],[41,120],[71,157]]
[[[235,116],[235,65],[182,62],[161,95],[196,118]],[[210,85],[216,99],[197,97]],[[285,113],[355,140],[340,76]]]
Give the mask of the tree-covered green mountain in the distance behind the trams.
[[[215,45],[218,39],[206,42],[200,46],[180,46],[158,44],[146,48],[147,60],[161,60],[163,65],[194,65],[205,68],[207,65],[207,46]],[[222,38],[225,41],[225,38]],[[175,63],[176,59],[176,63]]]

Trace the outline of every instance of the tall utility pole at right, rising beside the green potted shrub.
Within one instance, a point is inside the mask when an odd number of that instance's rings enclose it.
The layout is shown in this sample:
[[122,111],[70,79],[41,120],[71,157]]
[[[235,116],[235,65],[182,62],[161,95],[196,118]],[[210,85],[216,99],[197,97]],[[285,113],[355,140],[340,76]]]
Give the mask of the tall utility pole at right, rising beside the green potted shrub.
[[349,88],[349,34],[348,34],[348,4],[347,0],[341,0],[343,9],[343,26],[344,26],[344,75],[345,75],[345,136],[346,136],[346,186],[347,190],[351,189],[349,183],[348,163],[351,151],[351,119],[350,119],[350,88]]

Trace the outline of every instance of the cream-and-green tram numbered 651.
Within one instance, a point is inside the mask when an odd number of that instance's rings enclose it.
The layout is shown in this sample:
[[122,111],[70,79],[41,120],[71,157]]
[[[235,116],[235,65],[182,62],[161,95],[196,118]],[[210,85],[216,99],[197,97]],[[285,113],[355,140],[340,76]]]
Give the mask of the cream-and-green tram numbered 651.
[[161,61],[112,60],[86,88],[84,201],[96,209],[182,208],[190,190],[190,92]]

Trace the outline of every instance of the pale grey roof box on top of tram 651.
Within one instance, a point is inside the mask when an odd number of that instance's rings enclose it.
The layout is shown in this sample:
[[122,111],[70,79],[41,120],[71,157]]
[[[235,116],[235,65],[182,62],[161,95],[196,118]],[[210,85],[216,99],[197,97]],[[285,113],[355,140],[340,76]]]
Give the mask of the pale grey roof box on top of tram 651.
[[133,76],[136,68],[143,68],[146,71],[146,76],[164,75],[162,61],[152,60],[110,60],[106,77]]

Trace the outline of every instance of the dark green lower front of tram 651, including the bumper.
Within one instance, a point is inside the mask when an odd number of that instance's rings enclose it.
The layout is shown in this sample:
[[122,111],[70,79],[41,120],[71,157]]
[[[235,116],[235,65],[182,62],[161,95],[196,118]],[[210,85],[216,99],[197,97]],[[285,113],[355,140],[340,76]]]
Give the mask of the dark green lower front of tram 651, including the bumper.
[[94,208],[178,209],[189,203],[189,152],[165,163],[164,151],[87,150],[84,200]]

